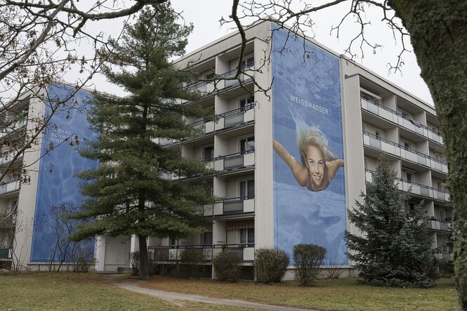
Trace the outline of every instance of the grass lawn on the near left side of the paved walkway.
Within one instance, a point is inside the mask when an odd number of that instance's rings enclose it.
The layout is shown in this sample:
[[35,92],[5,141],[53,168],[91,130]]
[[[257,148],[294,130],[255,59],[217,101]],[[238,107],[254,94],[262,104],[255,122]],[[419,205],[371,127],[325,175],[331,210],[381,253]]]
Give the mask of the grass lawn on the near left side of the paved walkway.
[[[239,310],[203,303],[178,305],[106,284],[101,274],[0,275],[0,310]],[[246,310],[246,309],[242,309]]]

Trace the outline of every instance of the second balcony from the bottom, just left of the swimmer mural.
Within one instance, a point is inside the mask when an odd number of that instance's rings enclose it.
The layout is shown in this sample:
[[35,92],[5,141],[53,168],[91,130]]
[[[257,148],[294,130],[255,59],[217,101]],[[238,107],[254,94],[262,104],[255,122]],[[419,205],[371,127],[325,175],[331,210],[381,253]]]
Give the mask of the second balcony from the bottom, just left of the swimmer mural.
[[204,216],[236,215],[254,213],[254,211],[255,199],[253,195],[223,199],[204,206]]

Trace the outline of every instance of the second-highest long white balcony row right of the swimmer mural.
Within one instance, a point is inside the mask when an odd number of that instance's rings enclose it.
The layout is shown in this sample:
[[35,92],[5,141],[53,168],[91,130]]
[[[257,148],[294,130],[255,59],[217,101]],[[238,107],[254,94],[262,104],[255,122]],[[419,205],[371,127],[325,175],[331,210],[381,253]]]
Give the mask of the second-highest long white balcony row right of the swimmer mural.
[[363,145],[447,174],[447,162],[363,131]]

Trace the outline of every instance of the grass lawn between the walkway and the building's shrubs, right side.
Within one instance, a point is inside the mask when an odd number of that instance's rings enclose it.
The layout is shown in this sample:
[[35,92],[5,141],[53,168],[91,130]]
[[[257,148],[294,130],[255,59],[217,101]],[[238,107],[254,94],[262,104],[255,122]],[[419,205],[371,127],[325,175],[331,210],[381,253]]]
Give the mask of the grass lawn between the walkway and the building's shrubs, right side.
[[315,286],[301,287],[296,282],[229,284],[210,279],[152,277],[144,287],[318,310],[458,310],[452,279],[441,279],[433,289],[393,289],[367,286],[357,279],[320,280]]

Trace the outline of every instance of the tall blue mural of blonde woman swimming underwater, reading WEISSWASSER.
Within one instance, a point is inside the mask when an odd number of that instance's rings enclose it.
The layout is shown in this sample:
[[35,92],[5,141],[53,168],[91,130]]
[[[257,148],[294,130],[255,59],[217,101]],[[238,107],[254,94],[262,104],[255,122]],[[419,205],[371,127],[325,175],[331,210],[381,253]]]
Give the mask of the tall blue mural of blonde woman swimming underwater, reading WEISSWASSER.
[[346,265],[339,60],[272,25],[275,247],[327,249]]

